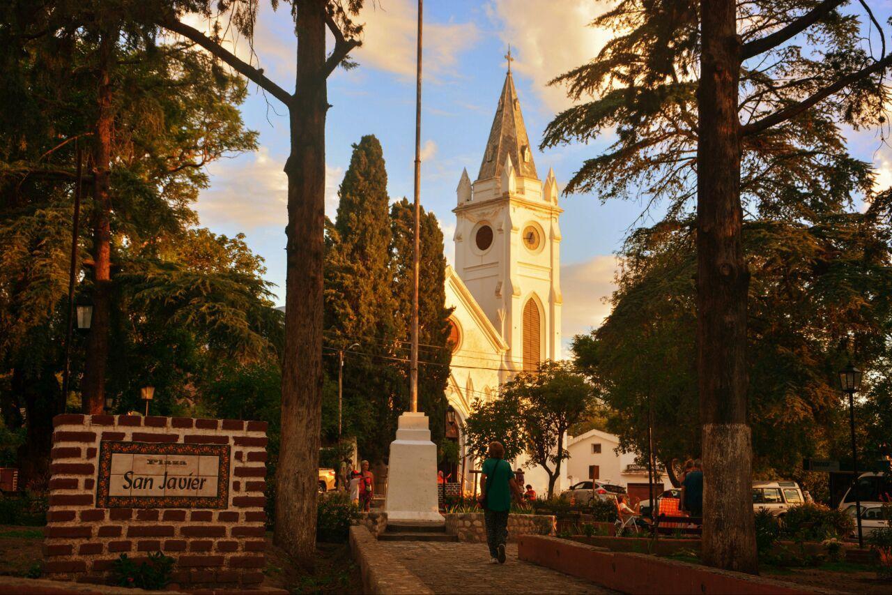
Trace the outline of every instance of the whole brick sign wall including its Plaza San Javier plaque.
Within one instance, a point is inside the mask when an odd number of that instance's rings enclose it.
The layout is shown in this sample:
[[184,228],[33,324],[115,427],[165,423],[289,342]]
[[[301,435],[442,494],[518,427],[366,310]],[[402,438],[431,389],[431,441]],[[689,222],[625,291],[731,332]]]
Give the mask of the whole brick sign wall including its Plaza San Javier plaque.
[[126,553],[182,585],[263,580],[267,424],[57,415],[45,574],[101,582]]

